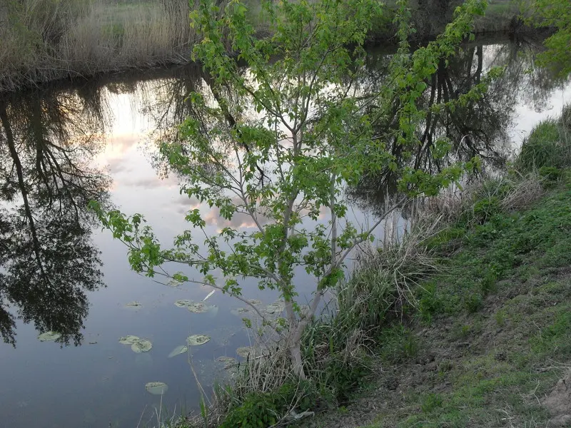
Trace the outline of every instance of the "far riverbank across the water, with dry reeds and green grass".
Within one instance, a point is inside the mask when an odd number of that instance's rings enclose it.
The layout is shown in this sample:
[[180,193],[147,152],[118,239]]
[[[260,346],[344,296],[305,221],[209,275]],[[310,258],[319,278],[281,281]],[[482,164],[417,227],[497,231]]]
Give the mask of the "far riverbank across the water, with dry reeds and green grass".
[[[258,16],[255,0],[248,2],[256,29],[267,29]],[[445,24],[427,19],[427,13],[412,3],[413,24],[419,39],[430,39]],[[125,0],[25,0],[0,6],[0,93],[37,86],[60,79],[89,78],[103,73],[160,68],[190,62],[196,35],[189,24],[188,1]],[[520,6],[512,1],[492,2],[486,16],[475,23],[475,34],[535,33],[518,16]],[[370,34],[371,43],[390,44],[393,16],[388,6],[385,19]]]

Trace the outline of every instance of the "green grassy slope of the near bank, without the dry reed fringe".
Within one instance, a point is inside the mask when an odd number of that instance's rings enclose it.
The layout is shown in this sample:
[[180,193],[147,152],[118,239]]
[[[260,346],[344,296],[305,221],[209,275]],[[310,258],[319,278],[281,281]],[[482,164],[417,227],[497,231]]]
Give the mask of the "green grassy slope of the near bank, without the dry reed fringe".
[[453,221],[426,242],[438,275],[378,336],[351,404],[304,426],[570,426],[570,111],[532,131],[519,173],[442,205]]

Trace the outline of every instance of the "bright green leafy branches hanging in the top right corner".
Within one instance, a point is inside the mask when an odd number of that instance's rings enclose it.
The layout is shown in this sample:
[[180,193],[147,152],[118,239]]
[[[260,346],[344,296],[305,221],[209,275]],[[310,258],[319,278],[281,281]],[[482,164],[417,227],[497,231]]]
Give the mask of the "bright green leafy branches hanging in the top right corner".
[[538,25],[557,29],[544,41],[547,51],[540,54],[540,65],[552,66],[562,76],[567,76],[571,73],[571,3],[567,0],[535,0],[532,12]]

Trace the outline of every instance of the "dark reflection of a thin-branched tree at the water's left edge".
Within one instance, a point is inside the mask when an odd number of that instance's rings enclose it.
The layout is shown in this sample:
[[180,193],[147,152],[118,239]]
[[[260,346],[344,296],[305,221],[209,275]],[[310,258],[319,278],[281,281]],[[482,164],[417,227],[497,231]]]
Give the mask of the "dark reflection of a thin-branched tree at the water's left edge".
[[0,333],[12,345],[16,318],[79,345],[86,292],[103,285],[86,210],[108,198],[108,178],[90,165],[101,110],[101,97],[74,92],[0,100]]

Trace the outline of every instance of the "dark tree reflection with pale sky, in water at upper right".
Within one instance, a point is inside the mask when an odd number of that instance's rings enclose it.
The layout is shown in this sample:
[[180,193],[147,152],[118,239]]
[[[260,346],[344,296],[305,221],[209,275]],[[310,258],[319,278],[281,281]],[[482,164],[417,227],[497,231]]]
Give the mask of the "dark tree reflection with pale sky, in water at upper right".
[[[386,136],[384,141],[399,167],[410,165],[437,172],[454,162],[478,156],[485,170],[502,168],[513,151],[510,127],[515,106],[524,102],[536,109],[545,108],[550,93],[563,83],[549,71],[533,68],[539,49],[542,49],[540,41],[517,40],[504,44],[480,41],[463,46],[448,63],[440,61],[437,71],[426,81],[427,89],[420,98],[419,107],[428,114],[417,130],[418,143],[415,146],[397,143],[394,131],[398,123],[393,120],[394,116],[388,115],[378,127],[379,135]],[[387,63],[386,53],[368,56],[369,76],[363,86],[370,93],[383,85],[383,69]],[[462,105],[450,105],[482,83],[486,71],[493,66],[504,67],[505,71],[492,81],[483,96]],[[433,107],[437,105],[443,108],[435,111]],[[433,148],[435,142],[443,138],[449,141],[451,150],[444,158],[437,158],[433,156]],[[360,185],[350,189],[350,194],[358,202],[380,209],[385,196],[396,192],[398,179],[390,170],[365,174]]]

